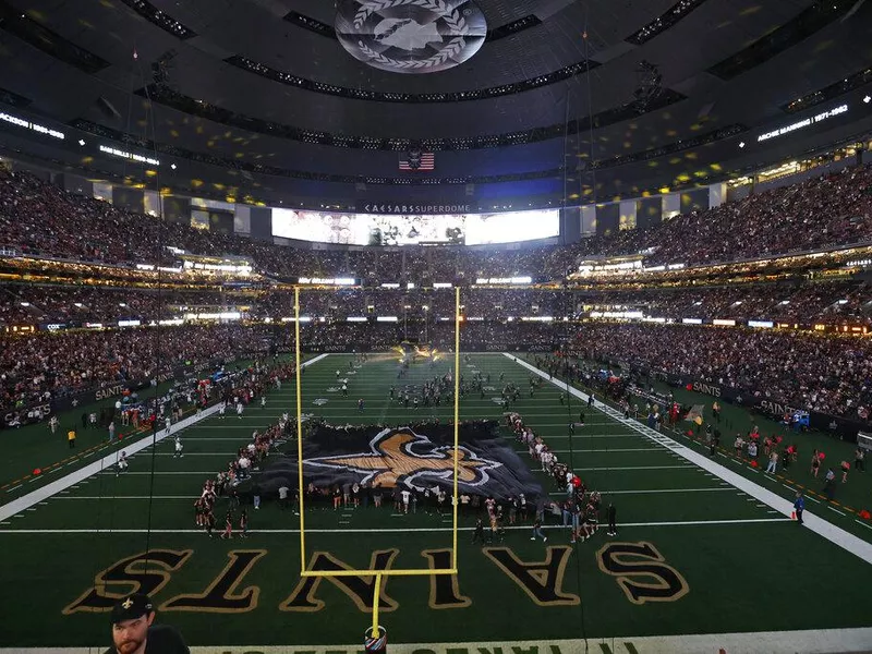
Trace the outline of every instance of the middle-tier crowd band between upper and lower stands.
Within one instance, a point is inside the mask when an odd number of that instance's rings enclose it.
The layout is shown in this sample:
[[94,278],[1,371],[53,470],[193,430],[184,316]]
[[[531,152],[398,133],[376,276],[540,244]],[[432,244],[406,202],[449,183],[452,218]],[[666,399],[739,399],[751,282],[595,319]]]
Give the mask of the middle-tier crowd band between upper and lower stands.
[[[183,318],[189,313],[239,312],[244,317],[281,320],[293,315],[293,293],[287,290],[222,291],[164,288],[64,287],[7,284],[0,290],[0,325],[144,323]],[[505,320],[553,316],[586,317],[592,312],[641,311],[647,316],[732,318],[801,324],[872,322],[872,288],[859,279],[790,281],[667,289],[565,290],[465,289],[462,314],[469,320]],[[349,316],[393,316],[398,320],[451,318],[451,289],[304,290],[301,315],[344,319]]]

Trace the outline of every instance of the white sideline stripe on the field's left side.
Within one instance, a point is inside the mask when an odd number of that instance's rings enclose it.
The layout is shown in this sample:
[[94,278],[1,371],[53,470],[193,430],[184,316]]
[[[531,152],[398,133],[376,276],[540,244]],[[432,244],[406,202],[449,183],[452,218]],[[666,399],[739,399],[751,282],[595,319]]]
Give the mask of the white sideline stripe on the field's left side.
[[[301,367],[310,366],[313,363],[322,361],[326,356],[328,356],[328,354],[319,354],[318,356],[315,356],[314,359],[310,359],[308,361],[304,361],[301,364]],[[148,447],[152,447],[153,445],[157,445],[158,443],[160,443],[161,440],[164,440],[168,436],[172,436],[173,434],[175,434],[178,432],[181,432],[181,431],[183,431],[183,429],[185,429],[187,427],[191,427],[192,425],[195,425],[196,423],[198,423],[198,422],[201,422],[201,421],[203,421],[203,420],[205,420],[205,419],[207,419],[207,417],[209,417],[209,416],[211,416],[211,415],[214,415],[216,413],[218,413],[218,404],[217,403],[213,404],[208,409],[204,409],[199,413],[199,415],[197,415],[197,414],[190,415],[189,417],[185,417],[184,420],[181,420],[180,422],[170,425],[170,433],[169,434],[167,434],[166,429],[159,429],[158,432],[153,432],[149,436],[144,436],[140,440],[136,440],[135,443],[126,445],[123,449],[128,453],[129,457],[133,457],[134,455],[136,455],[137,452],[141,452],[142,450],[144,450],[144,449],[146,449]],[[85,465],[84,468],[80,468],[78,470],[69,473],[68,475],[62,476],[61,479],[56,480],[56,481],[51,482],[50,484],[46,484],[45,486],[41,486],[41,487],[37,488],[36,491],[33,491],[32,493],[28,493],[27,495],[23,495],[22,497],[19,497],[17,499],[13,499],[9,504],[5,504],[5,505],[1,506],[0,507],[0,522],[9,520],[12,516],[14,516],[16,513],[21,513],[22,511],[25,511],[25,510],[29,509],[31,507],[36,506],[40,501],[45,501],[46,499],[48,499],[49,497],[51,497],[53,495],[58,495],[62,491],[66,491],[71,486],[74,486],[75,484],[78,484],[78,483],[85,481],[86,479],[88,479],[90,476],[94,476],[94,475],[100,474],[100,473],[105,474],[107,470],[111,469],[116,463],[118,463],[118,459],[119,459],[120,455],[121,455],[121,449],[119,448],[119,450],[112,452],[111,455],[107,455],[106,457],[102,457],[101,459],[98,459],[97,461],[94,461],[93,463],[89,463],[89,464]],[[135,474],[135,473],[124,473],[124,474]],[[148,473],[148,474],[150,474],[150,473]],[[156,473],[156,474],[159,474],[159,473]]]

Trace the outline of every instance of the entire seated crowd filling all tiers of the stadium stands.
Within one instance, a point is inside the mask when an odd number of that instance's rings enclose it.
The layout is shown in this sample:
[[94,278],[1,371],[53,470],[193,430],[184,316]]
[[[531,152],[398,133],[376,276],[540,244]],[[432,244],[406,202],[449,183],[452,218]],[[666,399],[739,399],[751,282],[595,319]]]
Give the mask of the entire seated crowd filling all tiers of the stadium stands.
[[[142,262],[178,264],[171,246],[195,254],[245,256],[261,272],[277,278],[362,278],[375,289],[303,294],[302,313],[311,318],[302,326],[306,347],[380,350],[413,338],[449,350],[453,346],[451,291],[387,290],[377,288],[379,283],[413,279],[420,286],[517,275],[561,278],[579,257],[590,255],[645,253],[651,264],[690,265],[864,242],[872,234],[870,187],[872,167],[846,169],[679,216],[646,230],[584,239],[572,246],[315,251],[159,221],[69,194],[27,173],[0,170],[0,247],[7,261],[15,254],[33,254],[80,264],[110,263],[131,270]],[[46,269],[51,265],[47,262]],[[240,311],[243,317],[271,318],[274,325],[7,335],[0,337],[0,408],[153,378],[183,361],[290,349],[291,330],[282,329],[280,322],[292,315],[290,292],[257,286],[230,292],[213,288],[158,293],[84,283],[5,284],[0,292],[0,322],[5,325],[146,323],[189,311]],[[476,289],[463,294],[467,322],[462,343],[547,350],[572,339],[579,330],[573,322],[548,322],[548,316],[585,318],[592,312],[618,307],[671,319],[849,320],[868,325],[870,300],[869,283],[859,279],[573,292]],[[344,322],[350,316],[368,317],[368,322]],[[397,322],[377,323],[377,316],[393,316]],[[872,403],[870,347],[860,340],[588,323],[574,342],[594,358],[621,358],[680,375],[755,388],[825,413],[862,417]]]

